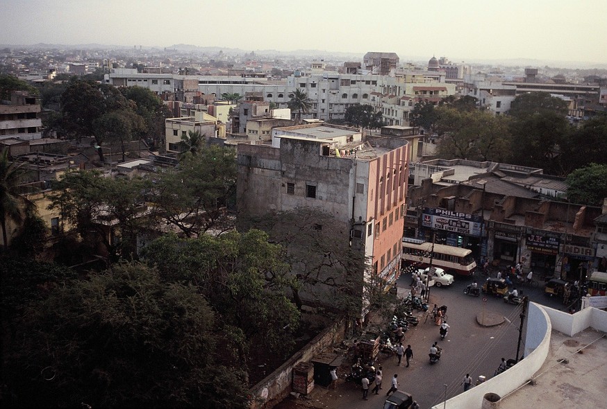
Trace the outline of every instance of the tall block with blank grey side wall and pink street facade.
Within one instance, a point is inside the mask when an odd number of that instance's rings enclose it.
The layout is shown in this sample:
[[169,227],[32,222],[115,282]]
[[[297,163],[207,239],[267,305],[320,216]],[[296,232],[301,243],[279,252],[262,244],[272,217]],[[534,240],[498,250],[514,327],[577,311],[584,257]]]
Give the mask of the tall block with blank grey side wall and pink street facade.
[[[333,216],[327,227],[364,252],[368,262],[360,277],[392,283],[402,253],[408,149],[403,139],[364,137],[337,125],[274,128],[272,146],[238,148],[239,212],[325,211]],[[307,290],[310,301],[335,296],[334,288]]]

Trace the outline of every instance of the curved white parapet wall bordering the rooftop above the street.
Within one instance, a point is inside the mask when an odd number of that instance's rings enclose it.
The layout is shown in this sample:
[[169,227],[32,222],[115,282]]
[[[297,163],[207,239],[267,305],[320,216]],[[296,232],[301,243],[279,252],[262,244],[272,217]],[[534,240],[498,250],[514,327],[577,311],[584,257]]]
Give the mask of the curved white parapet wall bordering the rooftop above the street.
[[[492,392],[504,398],[519,386],[529,381],[544,365],[550,349],[550,335],[552,325],[549,315],[540,305],[529,303],[527,330],[525,339],[525,355],[517,365],[474,388],[458,394],[447,401],[449,409],[474,409],[481,408],[483,396]],[[441,409],[444,403],[433,406],[433,409]]]

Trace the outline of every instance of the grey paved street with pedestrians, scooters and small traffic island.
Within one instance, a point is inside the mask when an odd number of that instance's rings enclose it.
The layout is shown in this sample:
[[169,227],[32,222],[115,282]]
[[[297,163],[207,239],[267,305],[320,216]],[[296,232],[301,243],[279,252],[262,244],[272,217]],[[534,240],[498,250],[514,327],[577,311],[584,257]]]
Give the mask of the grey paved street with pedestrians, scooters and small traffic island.
[[[482,284],[481,280],[478,279],[479,284]],[[397,366],[395,357],[381,363],[385,385],[381,394],[369,394],[369,400],[364,401],[359,387],[340,380],[335,391],[315,388],[311,396],[313,400],[308,403],[319,408],[381,408],[392,375],[396,373],[399,374],[400,389],[413,394],[421,408],[431,408],[444,400],[445,391],[447,399],[463,392],[460,383],[466,373],[474,381],[479,375],[490,378],[502,357],[508,359],[516,356],[519,310],[517,306],[506,304],[497,297],[486,297],[487,301],[483,302],[482,294],[481,297],[465,295],[463,290],[471,281],[456,277],[452,286],[431,288],[432,304],[448,306],[449,336],[440,341],[438,327],[430,321],[424,324],[422,315],[422,322],[406,332],[405,343],[412,345],[414,353],[411,366]],[[410,276],[401,277],[398,286],[408,288],[409,283]],[[540,281],[538,288],[523,290],[531,301],[563,309],[557,299],[543,295],[543,281]],[[476,315],[482,314],[483,308],[485,313],[503,315],[506,321],[496,327],[481,327],[476,322]],[[440,361],[430,365],[428,352],[434,341],[439,341],[443,351]]]

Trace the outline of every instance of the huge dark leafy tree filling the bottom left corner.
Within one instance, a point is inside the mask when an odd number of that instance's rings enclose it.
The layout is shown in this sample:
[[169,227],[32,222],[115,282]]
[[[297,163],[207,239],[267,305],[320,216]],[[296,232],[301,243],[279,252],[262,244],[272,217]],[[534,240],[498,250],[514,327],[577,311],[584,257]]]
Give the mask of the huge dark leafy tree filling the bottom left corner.
[[196,288],[119,265],[31,304],[3,383],[23,407],[247,408],[246,372],[222,338]]

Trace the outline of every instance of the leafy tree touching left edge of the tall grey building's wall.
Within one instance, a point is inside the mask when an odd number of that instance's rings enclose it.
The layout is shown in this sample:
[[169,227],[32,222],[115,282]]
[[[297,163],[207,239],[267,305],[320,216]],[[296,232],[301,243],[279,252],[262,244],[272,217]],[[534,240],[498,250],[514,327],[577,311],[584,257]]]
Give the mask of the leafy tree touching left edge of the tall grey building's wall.
[[188,237],[233,227],[226,207],[235,196],[236,171],[230,148],[209,146],[183,155],[178,168],[155,177],[148,198],[154,215]]

